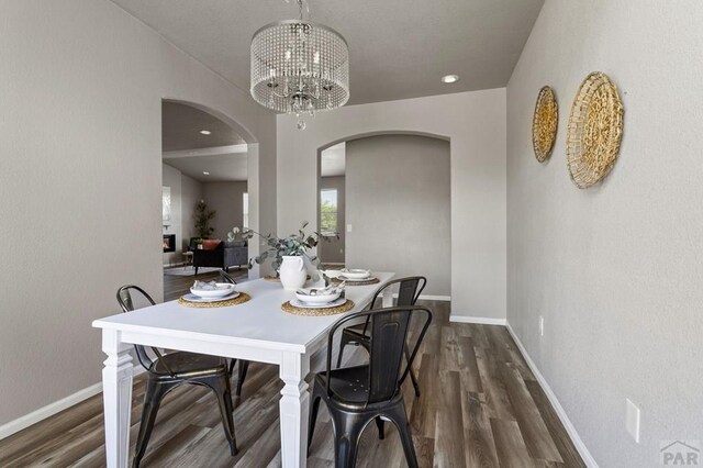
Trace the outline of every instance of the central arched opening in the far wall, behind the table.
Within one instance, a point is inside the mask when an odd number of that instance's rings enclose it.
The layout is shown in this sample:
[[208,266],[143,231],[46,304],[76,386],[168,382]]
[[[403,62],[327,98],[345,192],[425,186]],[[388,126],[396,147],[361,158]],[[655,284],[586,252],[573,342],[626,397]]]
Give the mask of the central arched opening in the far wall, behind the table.
[[322,263],[423,275],[429,296],[449,296],[449,153],[448,138],[414,132],[321,147],[317,220],[331,236],[319,248]]

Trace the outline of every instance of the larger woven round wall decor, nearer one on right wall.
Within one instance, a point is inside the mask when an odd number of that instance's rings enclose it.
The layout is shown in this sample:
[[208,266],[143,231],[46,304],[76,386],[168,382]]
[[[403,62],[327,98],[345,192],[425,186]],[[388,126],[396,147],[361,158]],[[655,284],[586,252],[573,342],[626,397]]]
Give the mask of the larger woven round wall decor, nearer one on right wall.
[[611,171],[623,137],[623,113],[607,75],[594,71],[583,80],[567,127],[567,166],[578,188],[587,189]]

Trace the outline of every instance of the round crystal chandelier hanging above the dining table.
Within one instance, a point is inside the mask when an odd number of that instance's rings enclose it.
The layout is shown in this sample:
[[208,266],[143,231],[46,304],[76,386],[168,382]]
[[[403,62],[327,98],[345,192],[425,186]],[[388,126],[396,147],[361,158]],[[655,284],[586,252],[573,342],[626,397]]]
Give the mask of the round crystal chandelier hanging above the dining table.
[[[287,2],[289,0],[286,0]],[[341,108],[349,100],[349,48],[339,33],[303,20],[267,24],[252,37],[252,97],[265,108],[302,115]],[[305,5],[306,7],[306,5]]]

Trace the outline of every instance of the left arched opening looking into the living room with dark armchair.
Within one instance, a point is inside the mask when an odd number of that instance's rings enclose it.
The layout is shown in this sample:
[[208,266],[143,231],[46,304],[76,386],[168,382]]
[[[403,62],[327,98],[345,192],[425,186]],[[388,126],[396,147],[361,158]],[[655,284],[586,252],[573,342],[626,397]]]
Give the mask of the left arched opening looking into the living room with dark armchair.
[[[216,272],[214,265],[193,268],[193,250],[203,237],[225,242],[233,227],[254,227],[252,221],[258,216],[252,215],[250,207],[256,203],[249,202],[248,188],[257,172],[249,171],[249,160],[256,161],[258,144],[245,127],[204,105],[164,99],[161,110],[165,272]],[[165,208],[167,196],[170,210]],[[214,216],[208,219],[208,213]],[[236,268],[239,277],[247,277],[248,246],[241,241],[235,244],[241,261],[223,267]],[[165,276],[168,293],[166,282]]]

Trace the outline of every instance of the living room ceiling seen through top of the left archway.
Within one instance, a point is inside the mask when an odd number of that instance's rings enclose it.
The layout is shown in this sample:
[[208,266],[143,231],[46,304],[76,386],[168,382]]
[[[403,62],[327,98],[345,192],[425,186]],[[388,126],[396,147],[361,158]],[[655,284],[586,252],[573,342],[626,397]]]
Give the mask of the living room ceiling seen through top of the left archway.
[[[202,135],[201,130],[211,133]],[[226,123],[199,109],[161,103],[161,147],[165,164],[201,182],[247,180],[244,140]]]

